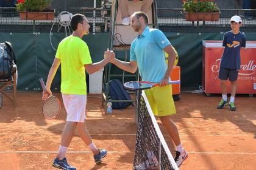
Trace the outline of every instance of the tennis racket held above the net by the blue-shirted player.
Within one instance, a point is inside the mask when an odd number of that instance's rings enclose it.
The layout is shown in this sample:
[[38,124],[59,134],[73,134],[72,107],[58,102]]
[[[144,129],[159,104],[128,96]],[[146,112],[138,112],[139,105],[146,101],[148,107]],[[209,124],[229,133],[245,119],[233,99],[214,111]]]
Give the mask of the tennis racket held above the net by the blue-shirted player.
[[[169,81],[168,84],[180,84],[180,80]],[[160,86],[160,83],[152,83],[150,81],[129,81],[124,83],[124,88],[127,90],[145,90],[155,86]]]

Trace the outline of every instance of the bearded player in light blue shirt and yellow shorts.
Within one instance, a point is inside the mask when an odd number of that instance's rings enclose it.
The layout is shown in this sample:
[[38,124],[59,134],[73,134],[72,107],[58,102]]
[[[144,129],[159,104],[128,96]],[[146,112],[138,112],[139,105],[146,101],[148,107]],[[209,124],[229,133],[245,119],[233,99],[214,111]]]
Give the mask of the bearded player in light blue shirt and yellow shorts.
[[[160,83],[160,86],[144,92],[154,115],[160,118],[176,144],[174,160],[177,166],[180,166],[188,154],[183,149],[178,129],[171,120],[171,115],[176,114],[176,109],[172,98],[172,88],[168,84],[176,53],[162,31],[148,27],[146,13],[135,12],[130,18],[130,26],[135,32],[138,32],[137,38],[132,41],[130,47],[130,62],[120,61],[116,58],[110,62],[127,72],[135,73],[138,69],[142,81]],[[169,55],[168,66],[165,62],[165,52]],[[115,55],[115,53],[108,51],[107,55]]]

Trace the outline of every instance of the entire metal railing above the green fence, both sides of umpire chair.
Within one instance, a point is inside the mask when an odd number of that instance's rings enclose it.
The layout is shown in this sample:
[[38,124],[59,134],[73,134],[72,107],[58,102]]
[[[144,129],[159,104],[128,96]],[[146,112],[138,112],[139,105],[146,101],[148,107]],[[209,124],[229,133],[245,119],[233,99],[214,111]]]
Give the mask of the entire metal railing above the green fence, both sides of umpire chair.
[[[71,8],[71,13],[82,13],[87,16],[91,25],[90,32],[109,32],[111,9]],[[55,9],[55,18],[49,20],[21,20],[15,8],[0,8],[0,32],[65,32],[58,24],[60,9]],[[243,32],[255,32],[256,9],[221,9],[219,21],[186,21],[183,9],[157,9],[157,22],[163,32],[225,32],[230,30],[230,18],[240,15]]]

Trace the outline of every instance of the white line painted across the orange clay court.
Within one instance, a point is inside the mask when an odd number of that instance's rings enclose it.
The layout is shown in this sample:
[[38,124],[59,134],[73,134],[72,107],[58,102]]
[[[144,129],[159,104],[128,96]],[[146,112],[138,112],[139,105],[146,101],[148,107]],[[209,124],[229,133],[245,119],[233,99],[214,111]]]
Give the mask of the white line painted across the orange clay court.
[[[125,153],[134,153],[134,152],[118,152],[118,151],[107,151],[108,153],[119,153],[119,154],[125,154]],[[43,153],[48,153],[48,154],[55,154],[58,153],[57,151],[0,151],[0,154],[11,154],[11,153],[16,153],[16,154],[43,154]],[[71,153],[71,154],[77,154],[77,153],[91,153],[91,151],[68,151],[66,153]],[[256,153],[246,153],[246,152],[188,152],[188,154],[223,154],[223,155],[256,155]]]

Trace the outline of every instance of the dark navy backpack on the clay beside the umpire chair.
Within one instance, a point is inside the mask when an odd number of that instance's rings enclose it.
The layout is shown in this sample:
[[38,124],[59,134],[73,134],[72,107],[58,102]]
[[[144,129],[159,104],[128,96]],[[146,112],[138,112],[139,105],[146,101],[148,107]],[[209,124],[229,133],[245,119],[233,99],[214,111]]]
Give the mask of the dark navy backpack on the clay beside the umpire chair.
[[[124,90],[124,86],[119,80],[109,81],[109,95],[111,100],[131,100],[130,95]],[[132,105],[132,102],[112,102],[112,109],[124,109]]]

